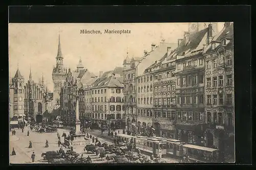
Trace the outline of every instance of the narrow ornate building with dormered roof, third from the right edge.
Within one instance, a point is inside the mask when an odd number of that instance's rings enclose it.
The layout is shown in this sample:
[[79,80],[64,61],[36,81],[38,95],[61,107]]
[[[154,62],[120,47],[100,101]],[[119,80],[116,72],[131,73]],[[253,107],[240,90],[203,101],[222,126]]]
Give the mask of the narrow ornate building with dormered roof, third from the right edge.
[[150,69],[154,70],[153,125],[158,136],[168,138],[176,137],[174,128],[176,118],[175,61],[176,46],[167,46],[167,52],[164,57],[150,67]]

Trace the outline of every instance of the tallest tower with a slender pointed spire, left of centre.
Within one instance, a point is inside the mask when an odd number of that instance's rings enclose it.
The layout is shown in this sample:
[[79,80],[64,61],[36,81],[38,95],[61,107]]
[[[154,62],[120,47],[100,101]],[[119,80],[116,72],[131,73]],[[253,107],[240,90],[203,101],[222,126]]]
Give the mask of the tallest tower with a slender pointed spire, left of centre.
[[66,80],[66,68],[63,67],[63,56],[60,47],[60,36],[58,41],[58,52],[56,56],[56,66],[52,70],[53,81],[53,105],[54,109],[60,107],[60,90]]

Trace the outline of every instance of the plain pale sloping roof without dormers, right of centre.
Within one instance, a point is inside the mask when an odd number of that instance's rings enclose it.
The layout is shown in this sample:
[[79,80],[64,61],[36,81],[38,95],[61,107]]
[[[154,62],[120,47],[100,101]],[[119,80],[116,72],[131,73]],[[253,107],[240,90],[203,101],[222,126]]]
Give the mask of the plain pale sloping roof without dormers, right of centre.
[[138,76],[142,75],[144,70],[149,66],[154,64],[156,61],[163,58],[167,53],[167,47],[172,47],[171,49],[174,50],[178,44],[175,43],[165,43],[161,42],[154,51],[148,54],[144,59],[141,60],[141,63],[138,65]]

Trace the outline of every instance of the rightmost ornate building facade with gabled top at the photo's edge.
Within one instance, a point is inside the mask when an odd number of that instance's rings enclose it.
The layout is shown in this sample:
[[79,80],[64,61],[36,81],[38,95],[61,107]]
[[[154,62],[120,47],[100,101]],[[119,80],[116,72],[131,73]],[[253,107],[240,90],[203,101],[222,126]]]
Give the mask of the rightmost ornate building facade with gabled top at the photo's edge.
[[[234,153],[234,55],[233,23],[204,48],[205,56],[205,146]],[[228,150],[228,151],[227,151]],[[233,158],[234,160],[234,158]]]

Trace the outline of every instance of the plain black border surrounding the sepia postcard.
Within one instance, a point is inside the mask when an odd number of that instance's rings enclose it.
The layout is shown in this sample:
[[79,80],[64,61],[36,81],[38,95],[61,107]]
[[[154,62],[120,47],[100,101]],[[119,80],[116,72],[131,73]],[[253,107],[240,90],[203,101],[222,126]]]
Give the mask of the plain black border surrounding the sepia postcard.
[[[235,63],[235,116],[236,116],[236,164],[250,164],[252,161],[251,136],[251,29],[250,6],[11,6],[9,7],[9,22],[16,23],[62,23],[62,22],[188,22],[188,21],[233,21],[234,22],[234,59]],[[6,21],[6,20],[5,20]],[[8,20],[7,20],[8,23]],[[8,28],[7,28],[8,32]],[[39,34],[39,33],[38,33]],[[5,36],[8,40],[8,34]],[[6,46],[7,60],[2,60],[7,66],[2,66],[1,77],[8,75],[8,43]],[[5,58],[6,59],[6,58]],[[5,62],[4,62],[5,61]],[[2,63],[2,64],[3,64]],[[9,77],[5,79],[9,81]],[[4,80],[4,79],[3,79]],[[7,87],[8,84],[2,84]],[[3,89],[3,88],[2,88]],[[1,98],[8,95],[8,90],[1,91]],[[5,98],[8,99],[8,98]],[[4,100],[2,100],[4,101]],[[1,111],[8,110],[8,100],[1,101]],[[6,106],[6,107],[4,107]],[[8,114],[4,114],[8,120]],[[1,124],[7,132],[8,126]],[[8,134],[6,139],[8,142]],[[1,161],[7,154],[1,154]],[[6,163],[6,162],[5,162]],[[111,164],[113,165],[113,164]],[[169,165],[169,164],[168,164]],[[183,168],[170,164],[175,168]],[[197,164],[198,165],[198,164]],[[222,164],[224,165],[224,164]],[[227,166],[230,166],[228,164]],[[34,168],[35,165],[32,166]],[[77,166],[77,165],[75,165]],[[105,164],[88,165],[105,167]],[[106,165],[108,166],[108,165]],[[126,168],[127,165],[116,165],[110,168]],[[128,165],[130,168],[132,165]],[[146,165],[150,166],[150,165]],[[152,165],[155,166],[156,165]],[[166,165],[161,168],[168,168]],[[185,165],[194,166],[194,165]],[[206,165],[207,166],[207,165]],[[206,167],[205,164],[200,168]],[[16,165],[11,165],[16,167]],[[24,167],[21,165],[19,168]],[[39,167],[39,166],[38,166]],[[40,166],[41,168],[42,166]],[[45,167],[45,166],[44,166]],[[143,166],[144,167],[144,166]],[[27,166],[26,166],[27,168]],[[145,167],[146,168],[146,167]],[[197,167],[198,168],[198,167]],[[209,168],[208,166],[206,168]]]

